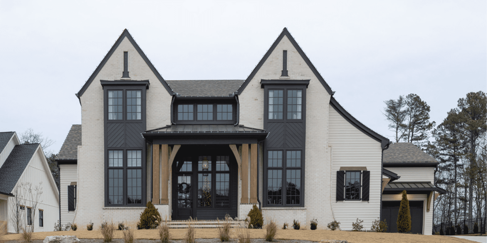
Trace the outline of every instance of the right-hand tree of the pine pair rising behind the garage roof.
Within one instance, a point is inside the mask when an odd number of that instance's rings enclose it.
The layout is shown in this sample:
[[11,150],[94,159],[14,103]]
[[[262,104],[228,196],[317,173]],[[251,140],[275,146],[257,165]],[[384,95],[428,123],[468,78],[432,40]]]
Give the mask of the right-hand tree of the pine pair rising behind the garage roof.
[[424,149],[430,131],[433,129],[435,122],[430,122],[430,106],[422,101],[416,94],[406,96],[406,129],[405,139],[414,145]]

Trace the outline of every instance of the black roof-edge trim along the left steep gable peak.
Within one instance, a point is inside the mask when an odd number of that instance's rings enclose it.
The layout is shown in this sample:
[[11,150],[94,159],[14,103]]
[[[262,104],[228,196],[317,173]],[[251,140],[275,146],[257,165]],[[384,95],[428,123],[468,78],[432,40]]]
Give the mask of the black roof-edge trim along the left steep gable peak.
[[86,89],[91,85],[91,83],[93,82],[93,80],[96,77],[96,75],[98,75],[98,73],[100,72],[100,70],[103,69],[103,66],[105,66],[105,64],[107,63],[108,59],[110,59],[110,57],[112,56],[113,52],[115,52],[115,50],[117,49],[118,45],[120,45],[120,43],[122,42],[122,40],[125,37],[127,37],[127,39],[133,45],[133,47],[135,48],[135,50],[137,50],[137,52],[142,57],[142,59],[144,59],[144,61],[146,62],[147,66],[149,66],[150,70],[152,70],[152,72],[157,77],[157,79],[159,79],[159,81],[161,82],[161,84],[166,88],[166,90],[168,90],[169,94],[172,95],[173,92],[172,92],[171,88],[169,87],[169,85],[162,78],[161,74],[159,74],[159,72],[157,71],[157,69],[155,69],[154,65],[152,65],[152,63],[149,61],[149,58],[147,58],[146,54],[144,54],[144,52],[142,52],[142,49],[140,49],[139,45],[137,45],[137,43],[135,42],[135,40],[130,35],[129,31],[127,29],[125,29],[122,32],[122,35],[120,35],[120,37],[118,37],[117,41],[115,41],[115,44],[113,44],[113,46],[110,49],[110,51],[108,51],[108,53],[105,55],[105,57],[103,58],[103,60],[101,61],[101,63],[98,65],[98,67],[94,70],[93,74],[90,76],[90,78],[88,79],[88,81],[86,81],[86,83],[83,85],[83,87],[81,87],[81,89],[79,90],[79,92],[76,94],[76,97],[78,97],[78,99],[83,95],[83,93],[86,91]]

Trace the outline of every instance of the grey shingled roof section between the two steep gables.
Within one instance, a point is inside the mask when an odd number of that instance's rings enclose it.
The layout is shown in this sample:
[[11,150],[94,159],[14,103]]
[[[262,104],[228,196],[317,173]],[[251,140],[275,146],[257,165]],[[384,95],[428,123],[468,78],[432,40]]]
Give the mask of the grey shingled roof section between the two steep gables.
[[181,96],[231,97],[245,80],[166,80],[172,91]]

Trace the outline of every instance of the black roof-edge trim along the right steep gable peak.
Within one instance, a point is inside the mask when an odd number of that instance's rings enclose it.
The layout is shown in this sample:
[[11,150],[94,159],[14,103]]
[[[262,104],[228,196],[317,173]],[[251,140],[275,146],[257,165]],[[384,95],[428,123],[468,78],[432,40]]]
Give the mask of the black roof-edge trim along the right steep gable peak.
[[242,87],[239,88],[238,94],[241,94],[244,91],[245,87],[247,87],[248,83],[250,83],[250,80],[252,80],[252,78],[254,78],[255,74],[257,74],[257,71],[259,71],[259,69],[265,63],[265,61],[270,56],[270,54],[274,51],[274,49],[276,49],[277,45],[279,44],[279,42],[281,42],[281,39],[284,36],[287,36],[287,38],[291,41],[291,43],[293,44],[294,48],[296,48],[296,50],[298,51],[298,53],[300,53],[301,58],[304,60],[304,62],[306,62],[306,64],[308,65],[308,67],[311,69],[311,71],[313,71],[313,73],[318,78],[318,80],[321,83],[321,85],[323,85],[323,87],[325,87],[326,91],[328,91],[328,94],[332,95],[334,92],[332,91],[331,87],[328,86],[328,84],[325,82],[325,80],[323,79],[323,77],[321,77],[321,74],[319,74],[318,70],[315,68],[315,66],[311,63],[311,61],[309,60],[309,58],[306,56],[306,54],[304,54],[303,50],[298,45],[298,42],[296,42],[296,40],[293,38],[293,36],[291,36],[291,33],[289,33],[289,31],[287,31],[287,28],[284,28],[282,30],[281,35],[279,35],[277,37],[276,41],[274,41],[274,43],[269,48],[269,50],[267,52],[265,52],[265,55],[262,57],[261,61],[257,64],[257,66],[254,68],[254,70],[252,70],[252,72],[247,77],[247,79],[245,79],[245,82],[244,82],[244,84],[242,84]]

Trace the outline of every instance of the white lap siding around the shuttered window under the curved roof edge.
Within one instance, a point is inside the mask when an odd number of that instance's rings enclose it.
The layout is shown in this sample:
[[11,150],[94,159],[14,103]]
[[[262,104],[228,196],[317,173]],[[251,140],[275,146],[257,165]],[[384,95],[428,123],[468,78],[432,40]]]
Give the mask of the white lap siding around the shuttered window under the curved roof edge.
[[[332,208],[340,228],[352,229],[356,219],[370,228],[380,215],[381,194],[381,147],[380,142],[370,138],[346,121],[330,105],[330,145],[332,147]],[[365,166],[370,171],[370,201],[335,201],[337,171],[342,166]],[[328,223],[328,222],[326,222]]]

